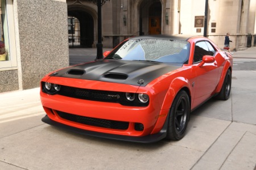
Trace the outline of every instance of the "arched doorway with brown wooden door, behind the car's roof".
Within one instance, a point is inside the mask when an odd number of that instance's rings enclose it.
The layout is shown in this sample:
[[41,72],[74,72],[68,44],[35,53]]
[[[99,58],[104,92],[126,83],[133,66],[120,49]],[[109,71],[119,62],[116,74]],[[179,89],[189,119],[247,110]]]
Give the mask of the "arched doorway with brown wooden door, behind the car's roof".
[[158,35],[162,30],[162,3],[144,0],[139,5],[139,35]]

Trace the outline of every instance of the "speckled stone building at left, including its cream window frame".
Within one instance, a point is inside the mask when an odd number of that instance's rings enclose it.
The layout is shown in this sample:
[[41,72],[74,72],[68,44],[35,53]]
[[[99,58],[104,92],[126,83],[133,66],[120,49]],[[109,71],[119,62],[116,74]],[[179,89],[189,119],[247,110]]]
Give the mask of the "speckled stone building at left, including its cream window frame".
[[69,65],[65,0],[1,0],[0,92],[39,87],[52,70]]

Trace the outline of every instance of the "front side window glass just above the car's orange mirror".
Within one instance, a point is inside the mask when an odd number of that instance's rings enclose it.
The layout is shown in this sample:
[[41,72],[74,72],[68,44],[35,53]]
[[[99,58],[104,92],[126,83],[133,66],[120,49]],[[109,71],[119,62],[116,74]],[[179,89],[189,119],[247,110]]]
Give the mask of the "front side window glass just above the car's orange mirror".
[[193,57],[193,62],[202,61],[203,56],[209,55],[209,49],[205,41],[200,41],[196,43],[195,53]]

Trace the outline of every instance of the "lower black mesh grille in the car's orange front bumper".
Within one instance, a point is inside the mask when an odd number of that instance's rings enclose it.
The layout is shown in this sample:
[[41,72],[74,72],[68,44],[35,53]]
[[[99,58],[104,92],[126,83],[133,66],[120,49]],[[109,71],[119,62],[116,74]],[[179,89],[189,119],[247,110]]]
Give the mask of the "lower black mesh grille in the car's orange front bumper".
[[97,127],[109,128],[109,129],[119,129],[119,130],[126,130],[129,127],[129,122],[85,117],[85,116],[79,116],[76,114],[60,112],[60,111],[56,111],[56,112],[57,114],[59,114],[61,118],[64,118],[65,120],[77,122],[84,125],[97,126]]

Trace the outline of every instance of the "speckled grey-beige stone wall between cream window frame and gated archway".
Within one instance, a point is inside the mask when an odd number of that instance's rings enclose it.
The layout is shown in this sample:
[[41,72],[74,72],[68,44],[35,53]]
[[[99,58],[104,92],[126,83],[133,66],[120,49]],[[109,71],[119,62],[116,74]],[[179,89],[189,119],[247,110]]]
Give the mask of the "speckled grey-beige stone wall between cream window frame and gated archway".
[[16,1],[19,36],[19,84],[39,87],[50,71],[69,65],[67,3],[53,0]]

